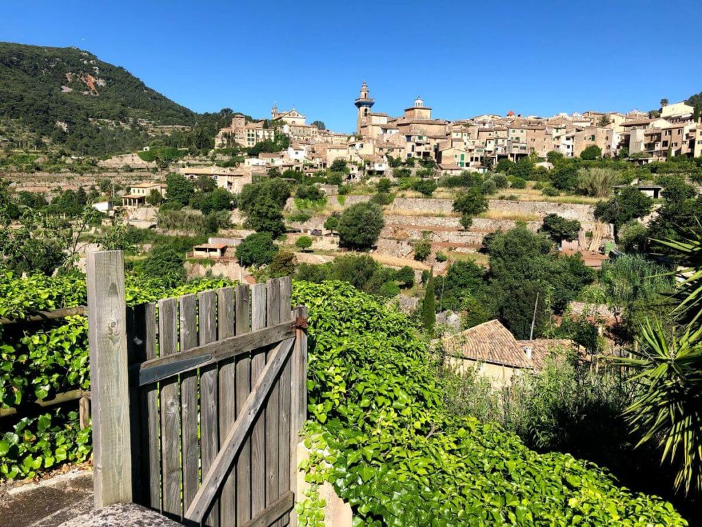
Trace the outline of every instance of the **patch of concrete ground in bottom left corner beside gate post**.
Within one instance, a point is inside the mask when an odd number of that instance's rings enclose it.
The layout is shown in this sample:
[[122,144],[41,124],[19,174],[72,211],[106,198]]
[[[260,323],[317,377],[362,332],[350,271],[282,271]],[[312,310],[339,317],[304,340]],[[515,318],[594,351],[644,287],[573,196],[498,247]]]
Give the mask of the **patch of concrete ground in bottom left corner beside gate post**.
[[93,472],[72,469],[37,483],[0,490],[0,523],[13,527],[58,527],[93,509]]

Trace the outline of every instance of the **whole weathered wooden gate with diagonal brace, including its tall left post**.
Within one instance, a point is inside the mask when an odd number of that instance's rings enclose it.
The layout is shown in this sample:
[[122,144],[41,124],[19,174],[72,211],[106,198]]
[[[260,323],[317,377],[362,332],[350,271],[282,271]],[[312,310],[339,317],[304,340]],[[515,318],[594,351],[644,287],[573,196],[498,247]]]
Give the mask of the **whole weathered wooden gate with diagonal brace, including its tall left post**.
[[294,525],[307,311],[290,278],[126,308],[121,252],[87,271],[96,506]]

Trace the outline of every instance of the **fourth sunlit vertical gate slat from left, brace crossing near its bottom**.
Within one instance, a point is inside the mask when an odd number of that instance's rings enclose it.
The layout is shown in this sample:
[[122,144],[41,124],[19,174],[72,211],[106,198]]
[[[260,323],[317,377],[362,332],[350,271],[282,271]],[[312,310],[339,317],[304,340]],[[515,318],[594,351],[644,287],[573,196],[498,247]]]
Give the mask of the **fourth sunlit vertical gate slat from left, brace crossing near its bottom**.
[[[197,294],[200,322],[200,343],[216,341],[216,296],[213,291]],[[210,470],[219,450],[218,434],[218,388],[217,365],[200,368],[200,441],[202,456],[202,473]],[[198,490],[199,493],[199,490]],[[197,499],[197,495],[196,498]],[[211,510],[205,521],[210,527],[219,526],[219,501],[211,501]],[[204,516],[203,516],[204,517]]]

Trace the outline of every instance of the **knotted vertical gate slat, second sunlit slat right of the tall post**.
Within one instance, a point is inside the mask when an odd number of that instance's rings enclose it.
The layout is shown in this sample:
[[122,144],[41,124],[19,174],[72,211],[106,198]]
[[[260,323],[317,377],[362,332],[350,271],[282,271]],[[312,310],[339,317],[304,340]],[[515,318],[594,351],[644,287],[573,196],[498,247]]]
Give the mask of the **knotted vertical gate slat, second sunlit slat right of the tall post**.
[[[176,353],[178,320],[176,299],[159,300],[159,353]],[[163,513],[174,519],[183,514],[180,503],[180,401],[178,379],[161,383],[161,478],[163,480]]]

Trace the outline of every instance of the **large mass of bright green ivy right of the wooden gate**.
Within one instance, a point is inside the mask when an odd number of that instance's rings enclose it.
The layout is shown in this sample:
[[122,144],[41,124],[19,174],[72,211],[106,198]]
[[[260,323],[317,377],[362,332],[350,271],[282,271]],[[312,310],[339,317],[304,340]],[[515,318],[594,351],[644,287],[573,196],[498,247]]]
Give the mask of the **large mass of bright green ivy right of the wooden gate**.
[[[341,282],[296,282],[293,303],[310,324],[303,469],[333,484],[355,525],[685,524],[594,464],[449,415],[425,342],[394,309]],[[313,504],[298,511],[318,524]]]

